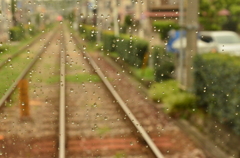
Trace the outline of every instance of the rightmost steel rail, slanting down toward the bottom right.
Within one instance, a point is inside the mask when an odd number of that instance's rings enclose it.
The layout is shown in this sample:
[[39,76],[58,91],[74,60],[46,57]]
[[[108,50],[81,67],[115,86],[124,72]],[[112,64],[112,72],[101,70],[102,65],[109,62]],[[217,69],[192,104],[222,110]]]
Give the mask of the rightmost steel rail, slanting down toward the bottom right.
[[[74,40],[76,43],[80,43],[79,40],[74,36]],[[116,90],[113,88],[111,83],[108,81],[106,76],[103,74],[103,72],[100,70],[99,66],[94,62],[94,60],[87,54],[84,53],[84,56],[87,58],[89,61],[89,64],[93,67],[95,72],[99,75],[99,77],[102,79],[103,83],[106,85],[108,90],[111,92],[111,94],[114,96],[114,98],[117,100],[118,104],[121,106],[125,114],[128,116],[128,118],[131,120],[131,122],[134,124],[136,129],[140,132],[142,135],[143,139],[146,141],[146,143],[149,145],[151,148],[152,152],[155,154],[157,158],[164,158],[162,153],[159,151],[157,146],[154,144],[152,139],[149,137],[147,132],[144,130],[144,128],[141,126],[140,122],[136,119],[134,114],[131,112],[131,110],[128,108],[128,106],[125,104],[125,102],[122,100],[122,98],[119,96],[119,94],[116,92]]]

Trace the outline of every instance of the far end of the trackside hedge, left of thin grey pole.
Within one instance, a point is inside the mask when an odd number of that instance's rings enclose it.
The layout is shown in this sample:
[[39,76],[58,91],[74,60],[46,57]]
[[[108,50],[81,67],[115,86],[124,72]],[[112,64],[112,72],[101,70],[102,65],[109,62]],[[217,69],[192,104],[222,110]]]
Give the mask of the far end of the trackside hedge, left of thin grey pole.
[[95,42],[97,40],[97,29],[94,26],[80,25],[79,33],[88,41]]

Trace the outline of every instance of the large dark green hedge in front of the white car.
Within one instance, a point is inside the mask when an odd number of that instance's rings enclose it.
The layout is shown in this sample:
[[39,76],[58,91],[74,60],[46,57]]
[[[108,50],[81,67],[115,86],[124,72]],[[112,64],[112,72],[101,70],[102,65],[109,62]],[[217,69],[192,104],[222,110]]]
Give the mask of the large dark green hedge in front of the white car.
[[201,105],[220,122],[240,134],[240,57],[197,55],[194,59],[195,92]]

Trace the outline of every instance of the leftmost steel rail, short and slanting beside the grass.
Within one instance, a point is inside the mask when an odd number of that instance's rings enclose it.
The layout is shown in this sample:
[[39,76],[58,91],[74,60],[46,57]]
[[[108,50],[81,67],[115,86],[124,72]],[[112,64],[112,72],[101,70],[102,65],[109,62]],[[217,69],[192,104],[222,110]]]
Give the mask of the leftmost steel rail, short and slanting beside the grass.
[[27,43],[26,45],[24,45],[23,47],[21,47],[16,53],[14,53],[12,56],[8,57],[8,59],[2,61],[0,63],[0,68],[2,68],[5,64],[7,64],[9,61],[9,58],[12,60],[13,58],[17,57],[19,54],[21,54],[23,51],[27,50],[27,48],[31,47],[32,45],[34,45],[37,40],[39,40],[41,37],[43,37],[44,35],[46,35],[46,32],[44,34],[39,35],[38,37],[36,37],[33,41]]

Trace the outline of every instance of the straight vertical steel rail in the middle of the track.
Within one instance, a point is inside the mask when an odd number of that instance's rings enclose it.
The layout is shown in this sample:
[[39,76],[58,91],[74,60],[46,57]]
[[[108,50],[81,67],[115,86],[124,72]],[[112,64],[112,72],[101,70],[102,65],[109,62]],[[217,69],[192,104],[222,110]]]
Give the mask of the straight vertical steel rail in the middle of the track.
[[[63,27],[63,26],[62,26]],[[65,61],[66,45],[64,31],[62,29],[62,47],[60,50],[60,104],[59,104],[59,158],[66,157],[66,122],[65,122]]]

